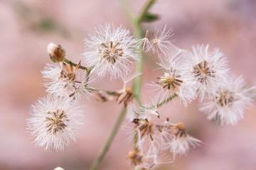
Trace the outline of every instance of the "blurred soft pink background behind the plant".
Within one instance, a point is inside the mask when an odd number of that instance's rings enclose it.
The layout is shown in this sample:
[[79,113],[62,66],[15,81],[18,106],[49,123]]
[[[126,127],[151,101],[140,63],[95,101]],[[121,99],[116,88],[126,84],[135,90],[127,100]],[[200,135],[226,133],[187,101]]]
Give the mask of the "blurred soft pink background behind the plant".
[[[144,1],[127,0],[138,13]],[[210,43],[228,57],[229,67],[247,84],[255,86],[256,1],[254,0],[159,0],[151,8],[161,19],[144,28],[174,28],[175,44],[191,50],[191,45]],[[107,139],[121,110],[117,103],[82,101],[85,119],[78,142],[64,152],[44,152],[33,145],[26,130],[31,104],[45,96],[41,70],[49,63],[49,42],[63,45],[67,57],[79,62],[83,38],[100,24],[123,24],[130,28],[117,0],[1,0],[0,1],[0,169],[48,170],[63,166],[66,170],[88,169]],[[156,57],[147,57],[143,83],[154,81]],[[101,79],[94,86],[117,90],[120,81]],[[143,87],[144,101],[150,94]],[[173,170],[252,170],[256,169],[256,106],[245,111],[238,125],[218,127],[198,111],[199,101],[188,108],[171,104],[160,110],[183,121],[188,132],[203,141],[175,164],[156,169]],[[126,123],[124,123],[126,124]],[[127,152],[132,148],[126,132],[119,130],[99,169],[132,169]]]

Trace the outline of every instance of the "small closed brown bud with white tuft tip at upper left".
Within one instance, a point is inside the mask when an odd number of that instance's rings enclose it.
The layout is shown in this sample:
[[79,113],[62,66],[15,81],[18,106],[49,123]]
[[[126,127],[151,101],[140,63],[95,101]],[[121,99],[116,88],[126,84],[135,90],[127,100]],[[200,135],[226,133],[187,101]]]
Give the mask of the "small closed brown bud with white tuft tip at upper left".
[[62,62],[65,57],[65,50],[61,45],[55,45],[53,42],[50,42],[47,46],[47,52],[50,55],[50,60],[53,62]]

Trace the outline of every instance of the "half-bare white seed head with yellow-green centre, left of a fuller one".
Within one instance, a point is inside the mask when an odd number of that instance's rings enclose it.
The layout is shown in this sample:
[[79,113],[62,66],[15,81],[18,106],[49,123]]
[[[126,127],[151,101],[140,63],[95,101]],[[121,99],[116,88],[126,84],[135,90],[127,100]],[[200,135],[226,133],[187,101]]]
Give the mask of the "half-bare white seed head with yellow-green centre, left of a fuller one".
[[156,98],[160,98],[161,101],[177,94],[179,100],[187,106],[187,103],[196,98],[196,82],[187,65],[177,62],[172,57],[160,60],[161,63],[158,64],[164,69],[164,74],[158,77],[159,81],[149,84],[151,91],[156,91]]

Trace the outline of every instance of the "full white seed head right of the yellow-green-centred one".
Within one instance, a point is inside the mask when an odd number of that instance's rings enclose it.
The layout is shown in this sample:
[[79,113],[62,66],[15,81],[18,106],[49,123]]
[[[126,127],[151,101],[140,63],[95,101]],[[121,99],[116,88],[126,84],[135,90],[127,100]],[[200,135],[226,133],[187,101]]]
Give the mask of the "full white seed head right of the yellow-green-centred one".
[[193,54],[188,55],[187,63],[197,79],[202,98],[205,94],[215,94],[229,77],[228,62],[218,48],[209,51],[208,45],[197,45],[193,47]]

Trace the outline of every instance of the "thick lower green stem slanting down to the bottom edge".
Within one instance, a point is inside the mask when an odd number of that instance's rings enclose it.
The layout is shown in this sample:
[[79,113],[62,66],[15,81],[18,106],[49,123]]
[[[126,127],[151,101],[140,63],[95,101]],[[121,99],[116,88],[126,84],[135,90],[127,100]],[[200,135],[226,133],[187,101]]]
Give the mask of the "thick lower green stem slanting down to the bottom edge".
[[99,164],[102,161],[103,157],[107,153],[107,149],[109,149],[110,144],[111,144],[112,140],[114,139],[114,135],[116,135],[117,130],[119,129],[119,126],[121,125],[122,120],[124,119],[125,112],[126,112],[126,108],[123,108],[121,113],[120,113],[120,115],[119,115],[119,117],[118,117],[118,119],[117,119],[117,122],[114,125],[114,128],[112,129],[112,132],[110,133],[110,136],[107,139],[107,142],[105,143],[105,145],[103,146],[102,150],[98,154],[97,159],[95,159],[95,161],[93,162],[92,166],[90,167],[90,170],[97,169],[97,166],[99,166]]

